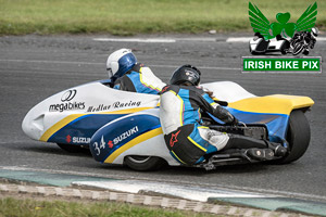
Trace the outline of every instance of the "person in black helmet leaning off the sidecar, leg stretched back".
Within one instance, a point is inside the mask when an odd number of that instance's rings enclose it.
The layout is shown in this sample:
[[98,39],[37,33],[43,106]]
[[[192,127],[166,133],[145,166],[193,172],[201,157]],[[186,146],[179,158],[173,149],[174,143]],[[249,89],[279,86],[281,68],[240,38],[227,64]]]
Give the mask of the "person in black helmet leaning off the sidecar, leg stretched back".
[[203,155],[224,149],[243,149],[247,156],[259,161],[286,154],[286,148],[280,144],[203,126],[201,112],[209,112],[229,125],[236,125],[238,120],[199,87],[200,75],[196,67],[183,65],[173,73],[170,85],[160,93],[160,120],[165,143],[174,158],[192,165],[202,162]]

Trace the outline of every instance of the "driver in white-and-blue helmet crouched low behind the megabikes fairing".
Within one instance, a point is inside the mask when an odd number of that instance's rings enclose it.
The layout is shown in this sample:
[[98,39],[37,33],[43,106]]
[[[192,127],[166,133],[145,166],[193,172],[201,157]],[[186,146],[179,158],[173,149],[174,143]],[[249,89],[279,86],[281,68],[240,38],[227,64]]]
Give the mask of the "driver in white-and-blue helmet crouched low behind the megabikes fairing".
[[165,86],[149,67],[137,63],[129,49],[120,49],[110,54],[106,69],[114,82],[113,88],[117,90],[158,94]]

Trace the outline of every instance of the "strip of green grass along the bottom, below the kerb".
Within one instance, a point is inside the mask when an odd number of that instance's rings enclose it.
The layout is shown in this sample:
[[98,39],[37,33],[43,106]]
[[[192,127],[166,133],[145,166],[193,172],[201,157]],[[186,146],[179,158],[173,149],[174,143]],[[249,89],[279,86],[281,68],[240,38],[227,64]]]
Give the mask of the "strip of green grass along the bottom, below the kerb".
[[163,209],[156,207],[136,206],[114,202],[64,202],[0,200],[0,217],[208,217],[213,215]]

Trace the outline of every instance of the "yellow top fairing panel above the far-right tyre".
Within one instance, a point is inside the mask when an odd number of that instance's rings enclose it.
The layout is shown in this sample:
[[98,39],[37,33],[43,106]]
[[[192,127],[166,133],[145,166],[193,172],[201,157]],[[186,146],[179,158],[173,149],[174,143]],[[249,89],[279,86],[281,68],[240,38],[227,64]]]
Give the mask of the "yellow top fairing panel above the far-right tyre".
[[289,115],[292,110],[310,107],[313,104],[314,101],[309,97],[273,94],[239,100],[228,106],[243,112]]

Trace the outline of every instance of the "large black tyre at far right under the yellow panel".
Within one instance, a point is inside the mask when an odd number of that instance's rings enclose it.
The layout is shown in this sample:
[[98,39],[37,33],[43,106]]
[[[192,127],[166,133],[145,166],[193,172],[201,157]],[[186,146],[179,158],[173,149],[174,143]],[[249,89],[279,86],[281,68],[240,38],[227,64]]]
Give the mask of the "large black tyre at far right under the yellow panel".
[[309,122],[301,110],[294,110],[290,114],[287,131],[287,141],[289,143],[289,153],[276,163],[288,164],[299,159],[306,151],[310,142]]

